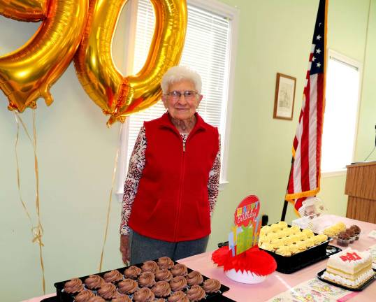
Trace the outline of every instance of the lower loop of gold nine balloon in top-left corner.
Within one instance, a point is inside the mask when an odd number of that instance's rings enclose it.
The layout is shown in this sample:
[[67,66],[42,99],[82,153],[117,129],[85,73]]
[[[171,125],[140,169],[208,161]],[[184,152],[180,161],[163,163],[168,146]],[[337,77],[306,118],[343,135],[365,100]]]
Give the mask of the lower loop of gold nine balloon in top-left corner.
[[47,15],[48,0],[0,0],[0,15],[20,21],[40,21]]

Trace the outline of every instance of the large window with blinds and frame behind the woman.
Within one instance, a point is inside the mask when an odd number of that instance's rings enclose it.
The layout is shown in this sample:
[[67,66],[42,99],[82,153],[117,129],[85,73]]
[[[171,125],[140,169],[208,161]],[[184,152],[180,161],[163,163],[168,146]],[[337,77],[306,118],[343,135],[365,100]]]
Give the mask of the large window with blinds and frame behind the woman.
[[[187,6],[187,35],[180,65],[190,66],[201,75],[203,100],[198,107],[198,113],[205,122],[218,127],[221,134],[221,183],[224,183],[238,10],[208,0],[188,0]],[[133,13],[129,18],[130,24],[136,25],[129,30],[134,32],[130,36],[135,38],[133,45],[129,45],[129,53],[133,55],[126,61],[128,65],[133,64],[129,73],[137,73],[145,62],[152,40],[154,10],[150,1],[138,0],[133,1],[131,11]],[[136,22],[133,21],[134,15]],[[129,157],[140,127],[144,121],[160,117],[165,111],[163,103],[159,101],[151,108],[127,118],[122,129],[117,194],[121,195],[123,192]]]

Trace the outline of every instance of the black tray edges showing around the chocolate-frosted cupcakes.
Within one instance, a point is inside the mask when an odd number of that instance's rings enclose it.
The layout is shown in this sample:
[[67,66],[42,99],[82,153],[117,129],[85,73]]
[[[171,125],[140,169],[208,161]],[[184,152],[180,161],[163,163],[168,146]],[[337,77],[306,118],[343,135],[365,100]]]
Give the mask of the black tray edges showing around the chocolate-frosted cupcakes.
[[[154,261],[157,262],[157,259],[154,259]],[[178,264],[177,261],[174,261],[174,264]],[[135,264],[135,266],[138,266],[139,268],[141,268],[143,264]],[[115,268],[117,271],[120,271],[120,273],[122,273],[124,275],[124,271],[126,270],[126,268],[129,268],[129,266],[124,266],[122,268]],[[188,273],[191,273],[191,271],[194,271],[192,270],[191,268],[187,268],[188,269]],[[95,274],[90,274],[90,275],[100,275],[101,277],[103,277],[103,275],[105,273],[108,273],[109,271],[105,271],[105,272],[101,272],[101,273],[95,273]],[[208,277],[206,277],[205,275],[202,275],[203,276],[203,281],[209,279]],[[84,283],[85,279],[89,277],[89,275],[85,275],[85,276],[82,276],[82,277],[79,277],[79,279],[82,281],[82,283]],[[53,297],[55,298],[56,300],[47,300],[45,302],[74,302],[74,298],[71,294],[67,294],[66,292],[63,291],[64,289],[64,284],[66,282],[68,282],[69,280],[65,280],[65,281],[60,281],[60,282],[56,282],[54,285],[56,287],[56,294],[57,296],[56,297]],[[224,292],[227,292],[229,291],[229,287],[226,287],[226,285],[222,285],[221,284],[221,288],[219,289],[219,292],[216,292],[216,293],[210,293],[210,294],[206,294],[205,296],[205,299],[201,299],[201,301],[210,301],[210,302],[213,302],[213,301],[232,301],[231,299],[227,298],[227,297],[224,297],[222,296],[222,294]],[[52,298],[52,297],[51,297]],[[48,298],[50,299],[50,298]],[[229,300],[226,300],[226,299],[229,299]]]

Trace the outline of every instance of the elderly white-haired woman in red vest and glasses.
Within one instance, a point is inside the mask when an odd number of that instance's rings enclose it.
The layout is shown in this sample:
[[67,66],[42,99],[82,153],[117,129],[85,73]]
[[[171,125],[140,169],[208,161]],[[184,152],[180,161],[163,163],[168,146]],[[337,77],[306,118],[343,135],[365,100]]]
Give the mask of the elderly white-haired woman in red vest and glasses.
[[124,184],[120,251],[124,263],[205,252],[218,195],[216,127],[196,109],[201,77],[173,66],[161,80],[167,110],[140,129]]

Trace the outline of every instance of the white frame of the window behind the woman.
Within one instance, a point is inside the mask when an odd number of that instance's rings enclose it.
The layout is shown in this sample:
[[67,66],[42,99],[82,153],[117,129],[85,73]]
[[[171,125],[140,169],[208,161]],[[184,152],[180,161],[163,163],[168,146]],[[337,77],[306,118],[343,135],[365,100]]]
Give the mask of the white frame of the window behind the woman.
[[[128,27],[126,29],[126,36],[129,37],[129,40],[126,45],[127,57],[124,59],[124,72],[126,74],[131,73],[133,69],[133,50],[134,50],[134,41],[135,41],[135,32],[136,32],[136,15],[138,8],[138,1],[131,0],[129,1],[129,8],[126,8],[124,15],[126,20],[129,20]],[[237,53],[237,44],[238,44],[238,24],[239,24],[239,10],[225,3],[219,2],[217,0],[187,0],[188,4],[209,10],[210,12],[217,13],[218,15],[224,15],[231,20],[230,29],[230,59],[229,59],[229,87],[228,87],[228,96],[226,104],[226,112],[224,113],[226,123],[224,129],[224,143],[222,152],[222,173],[221,179],[219,180],[219,190],[224,189],[224,185],[229,183],[227,178],[227,162],[229,158],[229,142],[230,142],[230,125],[231,125],[231,112],[232,112],[232,103],[233,103],[233,91],[234,91],[234,78],[235,78],[235,65],[236,65],[236,53]],[[122,201],[122,196],[124,194],[124,180],[127,173],[128,163],[126,162],[127,158],[127,149],[128,149],[128,131],[129,131],[129,122],[124,122],[122,126],[122,131],[120,134],[120,153],[117,164],[117,189],[116,195],[118,201]]]

